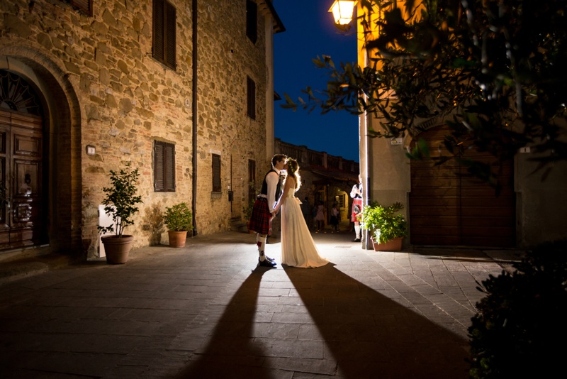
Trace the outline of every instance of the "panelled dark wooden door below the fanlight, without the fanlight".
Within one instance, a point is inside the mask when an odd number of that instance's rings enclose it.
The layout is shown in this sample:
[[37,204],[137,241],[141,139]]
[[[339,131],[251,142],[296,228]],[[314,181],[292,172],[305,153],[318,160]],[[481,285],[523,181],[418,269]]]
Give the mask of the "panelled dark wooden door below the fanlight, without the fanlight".
[[42,242],[42,130],[38,116],[0,111],[0,249]]

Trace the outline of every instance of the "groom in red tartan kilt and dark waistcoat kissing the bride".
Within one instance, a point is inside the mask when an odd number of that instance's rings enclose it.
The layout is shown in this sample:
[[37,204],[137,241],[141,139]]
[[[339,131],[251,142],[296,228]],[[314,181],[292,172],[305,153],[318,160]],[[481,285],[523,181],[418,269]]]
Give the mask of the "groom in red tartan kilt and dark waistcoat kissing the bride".
[[252,207],[252,216],[248,222],[248,230],[257,232],[256,245],[258,246],[258,264],[263,267],[274,267],[274,258],[269,258],[264,254],[266,247],[266,237],[271,234],[271,219],[276,216],[274,207],[276,200],[281,195],[281,181],[279,172],[286,165],[286,155],[276,154],[271,158],[271,170],[264,176],[262,189]]

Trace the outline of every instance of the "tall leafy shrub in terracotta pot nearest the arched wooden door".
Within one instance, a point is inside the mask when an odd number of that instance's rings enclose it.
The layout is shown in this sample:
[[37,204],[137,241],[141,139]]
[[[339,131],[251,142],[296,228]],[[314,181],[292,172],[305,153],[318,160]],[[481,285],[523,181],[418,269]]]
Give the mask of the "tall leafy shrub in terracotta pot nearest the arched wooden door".
[[136,185],[140,173],[132,169],[130,163],[120,171],[111,170],[110,187],[103,187],[106,197],[102,204],[104,212],[111,216],[113,224],[98,226],[99,233],[112,234],[101,236],[106,251],[106,262],[111,264],[126,263],[132,247],[134,236],[123,234],[126,226],[133,225],[133,216],[138,212],[136,204],[142,202],[141,196],[136,196]]

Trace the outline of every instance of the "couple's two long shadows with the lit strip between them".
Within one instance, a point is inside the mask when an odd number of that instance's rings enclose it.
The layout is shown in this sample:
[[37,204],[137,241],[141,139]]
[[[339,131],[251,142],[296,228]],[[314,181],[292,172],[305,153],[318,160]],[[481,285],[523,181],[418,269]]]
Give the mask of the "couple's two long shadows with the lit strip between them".
[[242,282],[176,378],[468,378],[466,340],[333,263],[271,270]]

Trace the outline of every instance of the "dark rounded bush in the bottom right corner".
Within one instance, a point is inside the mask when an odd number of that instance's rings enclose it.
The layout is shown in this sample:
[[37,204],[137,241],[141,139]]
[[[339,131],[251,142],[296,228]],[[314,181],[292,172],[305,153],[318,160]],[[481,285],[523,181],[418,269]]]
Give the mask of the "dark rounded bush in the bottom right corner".
[[567,358],[567,241],[545,243],[514,273],[482,282],[468,328],[471,378],[554,378]]

